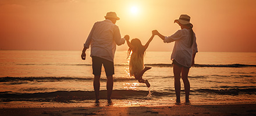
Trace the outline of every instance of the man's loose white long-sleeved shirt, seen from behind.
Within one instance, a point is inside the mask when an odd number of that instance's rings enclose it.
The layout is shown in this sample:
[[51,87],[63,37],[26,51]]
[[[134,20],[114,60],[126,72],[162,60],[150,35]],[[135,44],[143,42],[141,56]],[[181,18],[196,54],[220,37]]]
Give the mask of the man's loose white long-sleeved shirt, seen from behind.
[[116,45],[122,44],[125,44],[125,39],[121,38],[119,27],[106,19],[94,23],[84,47],[88,49],[91,45],[91,56],[113,62]]

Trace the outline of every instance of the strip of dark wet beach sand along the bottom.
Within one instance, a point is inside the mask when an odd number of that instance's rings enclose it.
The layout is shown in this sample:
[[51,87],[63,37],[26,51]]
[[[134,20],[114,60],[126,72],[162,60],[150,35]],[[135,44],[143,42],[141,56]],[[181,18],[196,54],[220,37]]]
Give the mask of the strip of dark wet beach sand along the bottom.
[[256,115],[256,104],[1,108],[0,115]]

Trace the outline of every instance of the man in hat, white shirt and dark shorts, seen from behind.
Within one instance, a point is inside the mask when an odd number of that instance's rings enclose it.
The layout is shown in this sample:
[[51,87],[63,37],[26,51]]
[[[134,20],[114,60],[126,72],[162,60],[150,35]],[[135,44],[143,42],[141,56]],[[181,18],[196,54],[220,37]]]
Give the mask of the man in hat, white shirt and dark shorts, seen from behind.
[[[81,54],[81,59],[86,59],[86,50],[91,45],[91,57],[93,59],[93,74],[94,74],[94,91],[96,103],[99,102],[99,78],[101,77],[102,64],[106,73],[106,89],[107,99],[111,103],[111,95],[113,90],[113,74],[116,45],[125,44],[125,39],[121,38],[119,27],[115,25],[119,17],[115,12],[106,13],[104,21],[94,23],[90,34],[84,44],[84,49]],[[126,38],[128,35],[125,36]]]

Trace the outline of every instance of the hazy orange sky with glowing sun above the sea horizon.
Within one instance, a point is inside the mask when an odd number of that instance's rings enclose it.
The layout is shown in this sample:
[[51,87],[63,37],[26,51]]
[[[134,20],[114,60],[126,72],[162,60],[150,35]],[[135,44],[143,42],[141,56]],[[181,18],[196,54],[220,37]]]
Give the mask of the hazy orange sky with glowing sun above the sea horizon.
[[[155,29],[172,35],[180,29],[173,21],[189,14],[200,52],[256,52],[255,6],[255,0],[1,0],[0,49],[82,50],[95,21],[114,11],[122,37],[143,44]],[[148,50],[173,45],[155,37]]]

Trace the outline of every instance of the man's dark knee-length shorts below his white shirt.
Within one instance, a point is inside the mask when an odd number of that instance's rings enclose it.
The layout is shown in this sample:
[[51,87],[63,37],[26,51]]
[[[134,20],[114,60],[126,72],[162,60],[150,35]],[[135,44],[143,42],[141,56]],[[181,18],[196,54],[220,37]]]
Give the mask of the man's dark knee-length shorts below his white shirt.
[[105,68],[106,76],[111,76],[115,74],[114,71],[114,63],[112,61],[102,59],[101,57],[92,56],[93,59],[93,74],[94,75],[101,75],[101,67],[102,64]]

